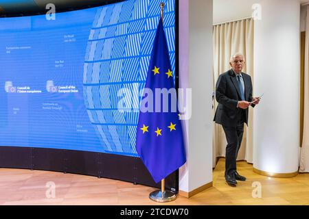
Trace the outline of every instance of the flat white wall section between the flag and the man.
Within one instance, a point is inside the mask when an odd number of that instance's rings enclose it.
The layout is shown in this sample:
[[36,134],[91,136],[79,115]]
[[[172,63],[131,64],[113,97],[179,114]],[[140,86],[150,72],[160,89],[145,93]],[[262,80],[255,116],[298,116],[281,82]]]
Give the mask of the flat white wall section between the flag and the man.
[[212,182],[213,92],[212,0],[180,0],[180,87],[192,88],[186,123],[187,164],[179,189],[192,192]]

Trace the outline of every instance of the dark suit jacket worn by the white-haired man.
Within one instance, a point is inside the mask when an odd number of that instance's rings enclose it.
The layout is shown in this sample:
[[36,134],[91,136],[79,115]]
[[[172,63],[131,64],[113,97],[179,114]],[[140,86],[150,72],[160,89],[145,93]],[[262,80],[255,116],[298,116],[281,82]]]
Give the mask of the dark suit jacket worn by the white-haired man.
[[[252,81],[250,75],[242,73],[244,79],[244,97],[251,102]],[[236,127],[240,113],[244,113],[244,123],[248,125],[249,109],[242,110],[237,107],[238,101],[241,101],[238,81],[233,70],[222,73],[216,83],[216,100],[219,105],[214,116],[214,121],[226,127]],[[252,105],[254,107],[254,105]]]

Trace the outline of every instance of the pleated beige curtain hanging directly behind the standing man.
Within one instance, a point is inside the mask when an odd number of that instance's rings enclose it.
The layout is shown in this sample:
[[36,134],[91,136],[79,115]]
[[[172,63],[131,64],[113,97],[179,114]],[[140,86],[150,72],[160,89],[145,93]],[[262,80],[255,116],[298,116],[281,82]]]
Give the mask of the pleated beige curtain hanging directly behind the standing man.
[[[253,31],[254,21],[252,18],[214,25],[214,88],[221,73],[230,69],[229,59],[234,53],[244,54],[247,62],[244,73],[251,75],[253,79]],[[254,86],[253,86],[254,92]],[[214,112],[218,103],[214,103]],[[238,160],[253,162],[253,110],[249,112],[249,127],[244,129],[242,146]],[[216,165],[217,157],[225,157],[227,141],[225,133],[220,125],[214,124],[213,164]]]

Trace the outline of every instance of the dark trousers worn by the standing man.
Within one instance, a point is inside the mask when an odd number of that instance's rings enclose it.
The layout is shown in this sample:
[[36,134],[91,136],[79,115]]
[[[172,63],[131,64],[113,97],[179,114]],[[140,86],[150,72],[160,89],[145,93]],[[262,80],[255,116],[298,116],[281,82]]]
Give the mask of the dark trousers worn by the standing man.
[[222,126],[227,138],[227,149],[225,151],[225,175],[233,175],[236,172],[236,159],[240,145],[242,144],[242,136],[244,134],[243,114],[240,111],[238,116],[238,125],[236,127]]

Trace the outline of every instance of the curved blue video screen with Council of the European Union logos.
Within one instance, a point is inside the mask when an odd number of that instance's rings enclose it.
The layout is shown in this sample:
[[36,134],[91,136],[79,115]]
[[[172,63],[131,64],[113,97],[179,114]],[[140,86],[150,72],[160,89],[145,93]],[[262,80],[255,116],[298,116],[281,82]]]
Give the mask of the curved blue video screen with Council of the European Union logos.
[[[0,19],[0,145],[137,156],[139,92],[159,22],[157,0]],[[174,71],[174,0],[165,32]],[[119,90],[136,112],[118,110]]]

